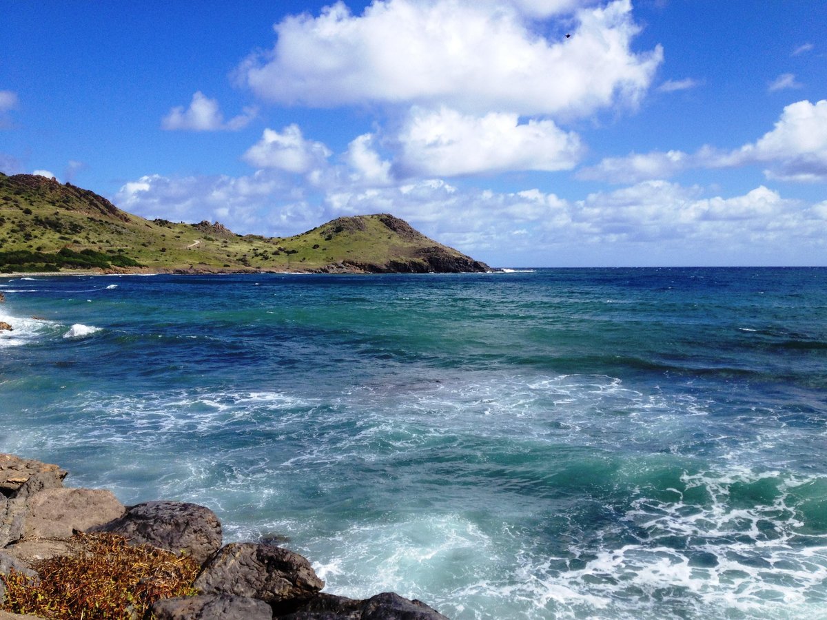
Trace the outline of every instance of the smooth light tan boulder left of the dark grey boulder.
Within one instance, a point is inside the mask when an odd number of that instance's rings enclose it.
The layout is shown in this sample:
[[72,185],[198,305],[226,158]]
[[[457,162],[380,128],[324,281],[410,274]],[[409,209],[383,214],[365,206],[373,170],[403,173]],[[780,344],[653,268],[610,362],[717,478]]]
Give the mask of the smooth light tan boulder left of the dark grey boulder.
[[45,489],[26,498],[26,503],[26,538],[69,538],[74,531],[85,532],[126,512],[103,489]]

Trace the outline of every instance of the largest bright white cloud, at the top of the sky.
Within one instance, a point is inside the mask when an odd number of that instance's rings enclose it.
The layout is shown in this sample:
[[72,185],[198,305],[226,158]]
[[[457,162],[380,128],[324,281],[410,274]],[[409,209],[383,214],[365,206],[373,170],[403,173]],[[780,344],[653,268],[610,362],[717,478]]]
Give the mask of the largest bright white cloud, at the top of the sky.
[[[518,4],[554,12],[577,2]],[[262,98],[320,107],[584,117],[637,103],[662,60],[659,47],[631,50],[638,26],[629,0],[579,10],[571,39],[539,35],[513,5],[458,0],[375,0],[358,17],[337,2],[318,17],[288,17],[275,31],[275,47],[247,59],[239,78]]]

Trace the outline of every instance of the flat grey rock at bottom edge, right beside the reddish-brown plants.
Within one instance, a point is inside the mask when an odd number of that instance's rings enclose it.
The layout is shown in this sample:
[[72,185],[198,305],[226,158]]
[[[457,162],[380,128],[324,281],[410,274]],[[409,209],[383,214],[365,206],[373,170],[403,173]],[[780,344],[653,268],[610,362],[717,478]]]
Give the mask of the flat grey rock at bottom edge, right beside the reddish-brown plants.
[[202,594],[161,599],[153,603],[155,620],[270,620],[270,605],[230,594]]

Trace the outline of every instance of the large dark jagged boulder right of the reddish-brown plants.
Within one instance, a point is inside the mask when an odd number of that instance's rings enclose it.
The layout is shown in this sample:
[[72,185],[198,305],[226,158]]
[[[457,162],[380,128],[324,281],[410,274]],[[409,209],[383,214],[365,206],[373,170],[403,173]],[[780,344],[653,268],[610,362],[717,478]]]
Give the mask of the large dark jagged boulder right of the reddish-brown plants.
[[279,546],[234,542],[204,566],[194,587],[204,593],[235,594],[270,603],[288,613],[324,587],[310,562]]

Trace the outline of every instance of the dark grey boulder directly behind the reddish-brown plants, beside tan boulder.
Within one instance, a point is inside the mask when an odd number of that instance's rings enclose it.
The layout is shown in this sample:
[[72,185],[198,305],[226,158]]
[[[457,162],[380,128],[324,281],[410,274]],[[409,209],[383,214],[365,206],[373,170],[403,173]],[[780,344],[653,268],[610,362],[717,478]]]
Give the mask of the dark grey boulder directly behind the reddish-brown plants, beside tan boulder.
[[90,532],[112,532],[133,545],[146,543],[173,553],[184,551],[198,564],[221,547],[221,522],[212,510],[195,503],[139,503]]

